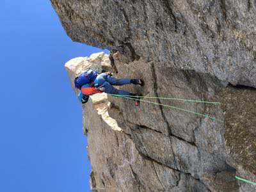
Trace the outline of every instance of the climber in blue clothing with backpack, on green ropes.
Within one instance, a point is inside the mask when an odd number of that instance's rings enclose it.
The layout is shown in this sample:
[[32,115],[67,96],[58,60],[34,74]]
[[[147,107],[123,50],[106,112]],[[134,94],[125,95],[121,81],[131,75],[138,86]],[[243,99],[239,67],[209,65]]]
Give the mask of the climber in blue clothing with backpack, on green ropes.
[[[113,95],[125,95],[129,96],[136,96],[136,93],[126,92],[124,90],[118,90],[113,87],[113,85],[122,86],[124,84],[138,84],[140,86],[144,85],[142,79],[116,79],[112,77],[111,72],[103,72],[98,74],[93,70],[87,70],[79,77],[74,79],[74,84],[77,89],[81,90],[79,93],[78,99],[85,103],[88,101],[89,95],[93,95],[95,93],[109,93]],[[136,105],[138,105],[138,98],[134,98],[136,100]]]

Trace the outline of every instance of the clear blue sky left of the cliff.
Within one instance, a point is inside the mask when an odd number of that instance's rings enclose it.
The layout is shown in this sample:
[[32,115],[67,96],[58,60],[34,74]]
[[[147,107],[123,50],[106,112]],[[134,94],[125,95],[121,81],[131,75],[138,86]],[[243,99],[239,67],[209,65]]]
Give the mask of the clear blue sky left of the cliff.
[[1,1],[0,191],[89,190],[81,106],[64,63],[72,42],[50,1]]

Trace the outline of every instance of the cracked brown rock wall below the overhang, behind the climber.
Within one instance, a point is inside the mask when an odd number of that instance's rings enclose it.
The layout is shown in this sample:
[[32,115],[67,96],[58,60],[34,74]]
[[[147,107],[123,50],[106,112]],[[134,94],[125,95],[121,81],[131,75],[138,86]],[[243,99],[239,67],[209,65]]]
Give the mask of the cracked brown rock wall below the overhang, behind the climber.
[[[100,57],[103,61],[98,61],[97,65],[108,66],[109,60],[106,62],[104,59],[107,58],[106,55]],[[127,90],[136,90],[145,95],[157,95],[161,92],[163,96],[173,97],[183,91],[182,93],[193,93],[196,99],[221,100],[223,105],[160,100],[163,104],[216,118],[211,120],[205,116],[144,102],[141,102],[139,112],[138,108],[134,108],[132,100],[114,99],[105,94],[93,95],[90,102],[83,106],[84,132],[88,136],[88,156],[93,170],[90,184],[93,189],[239,191],[234,179],[236,174],[247,179],[255,178],[255,102],[248,102],[256,98],[254,90],[225,88],[218,79],[193,71],[165,68],[163,71],[168,73],[160,76],[157,72],[159,69],[153,70],[152,63],[148,68],[141,60],[124,65],[119,61],[122,60],[121,56],[115,54],[114,58],[118,76],[147,79],[144,88],[129,85],[125,86]],[[91,65],[72,61],[73,65],[65,65],[68,74],[72,76],[76,74],[74,68]],[[136,70],[138,67],[140,70]],[[170,89],[166,90],[164,87]],[[237,116],[243,114],[246,116]],[[243,122],[234,122],[231,118],[246,120],[248,125],[243,128]],[[233,123],[240,123],[239,129],[232,126]],[[230,129],[235,129],[238,133]],[[245,143],[243,148],[239,148],[241,143],[236,142],[236,137],[232,134],[240,134],[239,131],[246,129],[250,132],[240,136]],[[246,158],[250,161],[246,161]],[[254,190],[253,186],[244,183],[240,184],[240,189]]]

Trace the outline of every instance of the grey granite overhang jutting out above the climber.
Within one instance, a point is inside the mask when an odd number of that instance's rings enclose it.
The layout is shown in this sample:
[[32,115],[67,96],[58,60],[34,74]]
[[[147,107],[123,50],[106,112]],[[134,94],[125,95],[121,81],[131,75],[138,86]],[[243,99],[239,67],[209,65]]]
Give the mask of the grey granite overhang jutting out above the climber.
[[256,87],[256,3],[51,0],[72,40]]

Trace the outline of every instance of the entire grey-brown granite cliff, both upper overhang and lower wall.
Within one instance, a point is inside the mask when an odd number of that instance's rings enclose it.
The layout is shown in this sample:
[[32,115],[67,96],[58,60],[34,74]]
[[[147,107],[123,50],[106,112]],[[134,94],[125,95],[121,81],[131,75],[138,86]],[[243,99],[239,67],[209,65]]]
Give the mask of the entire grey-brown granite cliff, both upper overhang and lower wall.
[[[72,40],[111,51],[94,55],[98,64],[146,83],[125,90],[176,98],[136,108],[101,94],[83,105],[93,190],[256,191],[235,179],[256,181],[254,1],[52,5]],[[66,64],[71,81],[94,61],[82,60]]]

